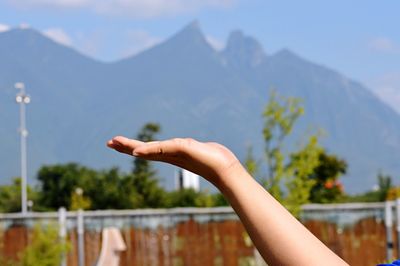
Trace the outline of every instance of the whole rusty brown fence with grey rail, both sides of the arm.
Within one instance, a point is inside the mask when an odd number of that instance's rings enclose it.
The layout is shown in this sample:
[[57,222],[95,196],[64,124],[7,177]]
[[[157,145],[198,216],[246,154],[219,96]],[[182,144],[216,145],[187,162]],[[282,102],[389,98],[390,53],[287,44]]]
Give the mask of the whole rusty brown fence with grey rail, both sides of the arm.
[[[0,254],[15,258],[29,244],[33,225],[52,221],[72,244],[68,266],[94,265],[101,231],[108,226],[119,228],[127,245],[121,265],[263,264],[231,208],[0,214]],[[306,205],[301,221],[351,265],[373,265],[400,254],[400,200]]]

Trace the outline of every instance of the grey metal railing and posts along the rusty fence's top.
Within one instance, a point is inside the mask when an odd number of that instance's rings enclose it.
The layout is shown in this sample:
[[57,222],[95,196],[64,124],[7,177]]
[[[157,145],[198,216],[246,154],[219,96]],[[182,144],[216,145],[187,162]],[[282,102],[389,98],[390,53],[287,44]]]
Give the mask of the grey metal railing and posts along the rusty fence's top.
[[[365,213],[373,213],[378,219],[382,219],[386,228],[386,257],[392,259],[394,249],[400,254],[400,199],[396,201],[387,201],[380,203],[345,203],[345,204],[308,204],[302,207],[303,217],[307,220],[319,215],[318,217],[338,217],[340,213],[360,213],[358,219],[363,218]],[[363,214],[364,213],[364,214]],[[65,238],[67,235],[68,224],[73,223],[77,232],[78,245],[78,265],[84,265],[85,248],[84,248],[84,232],[85,224],[91,219],[111,219],[109,224],[125,218],[143,218],[151,217],[197,217],[201,220],[201,216],[213,216],[213,219],[238,219],[235,212],[230,207],[218,208],[174,208],[174,209],[140,209],[140,210],[98,210],[98,211],[66,211],[60,208],[58,212],[28,212],[28,213],[2,213],[0,214],[0,222],[12,224],[15,221],[28,224],[27,221],[35,220],[57,220],[59,224],[59,236]],[[330,216],[329,216],[330,215]],[[333,215],[333,216],[332,216]],[[336,215],[336,216],[335,216]],[[363,216],[364,215],[364,216]],[[199,218],[200,217],[200,218]],[[218,218],[219,217],[219,218]],[[204,218],[204,217],[203,217]],[[335,218],[335,219],[336,219]],[[204,218],[207,219],[207,218]],[[335,220],[334,221],[338,221]],[[102,220],[102,221],[103,221]],[[176,221],[179,221],[177,219]],[[103,221],[104,222],[104,221]],[[157,223],[162,223],[163,219],[159,219]],[[102,224],[102,226],[104,223]],[[120,223],[123,225],[123,222]],[[118,223],[115,224],[118,227]],[[393,229],[397,232],[397,247],[394,247]]]

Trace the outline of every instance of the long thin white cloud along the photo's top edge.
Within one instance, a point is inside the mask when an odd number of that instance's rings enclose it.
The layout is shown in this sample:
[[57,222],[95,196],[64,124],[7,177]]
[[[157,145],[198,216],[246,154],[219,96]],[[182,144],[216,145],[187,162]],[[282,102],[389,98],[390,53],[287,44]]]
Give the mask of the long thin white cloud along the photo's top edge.
[[149,18],[197,11],[203,8],[227,8],[237,0],[9,0],[20,8],[86,9],[106,15]]

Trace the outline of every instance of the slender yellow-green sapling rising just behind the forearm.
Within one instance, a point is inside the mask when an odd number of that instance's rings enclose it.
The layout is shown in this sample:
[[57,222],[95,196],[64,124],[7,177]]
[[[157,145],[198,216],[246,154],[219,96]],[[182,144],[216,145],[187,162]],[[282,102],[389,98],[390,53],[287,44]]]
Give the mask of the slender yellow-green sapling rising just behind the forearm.
[[[268,167],[268,178],[263,185],[295,216],[299,214],[300,206],[309,202],[310,191],[315,184],[315,180],[309,176],[318,166],[319,153],[322,151],[317,136],[311,136],[302,149],[285,155],[284,144],[303,113],[299,99],[279,96],[275,91],[270,93],[263,113]],[[286,186],[286,193],[282,183]]]

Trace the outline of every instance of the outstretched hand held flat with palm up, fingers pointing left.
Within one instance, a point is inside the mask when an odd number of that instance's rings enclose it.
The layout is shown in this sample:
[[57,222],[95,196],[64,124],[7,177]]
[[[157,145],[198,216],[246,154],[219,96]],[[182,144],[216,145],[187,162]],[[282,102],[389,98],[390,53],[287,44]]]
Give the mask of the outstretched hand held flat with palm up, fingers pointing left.
[[117,136],[107,146],[135,157],[170,163],[196,173],[219,187],[241,164],[226,147],[214,142],[175,138],[142,142]]

